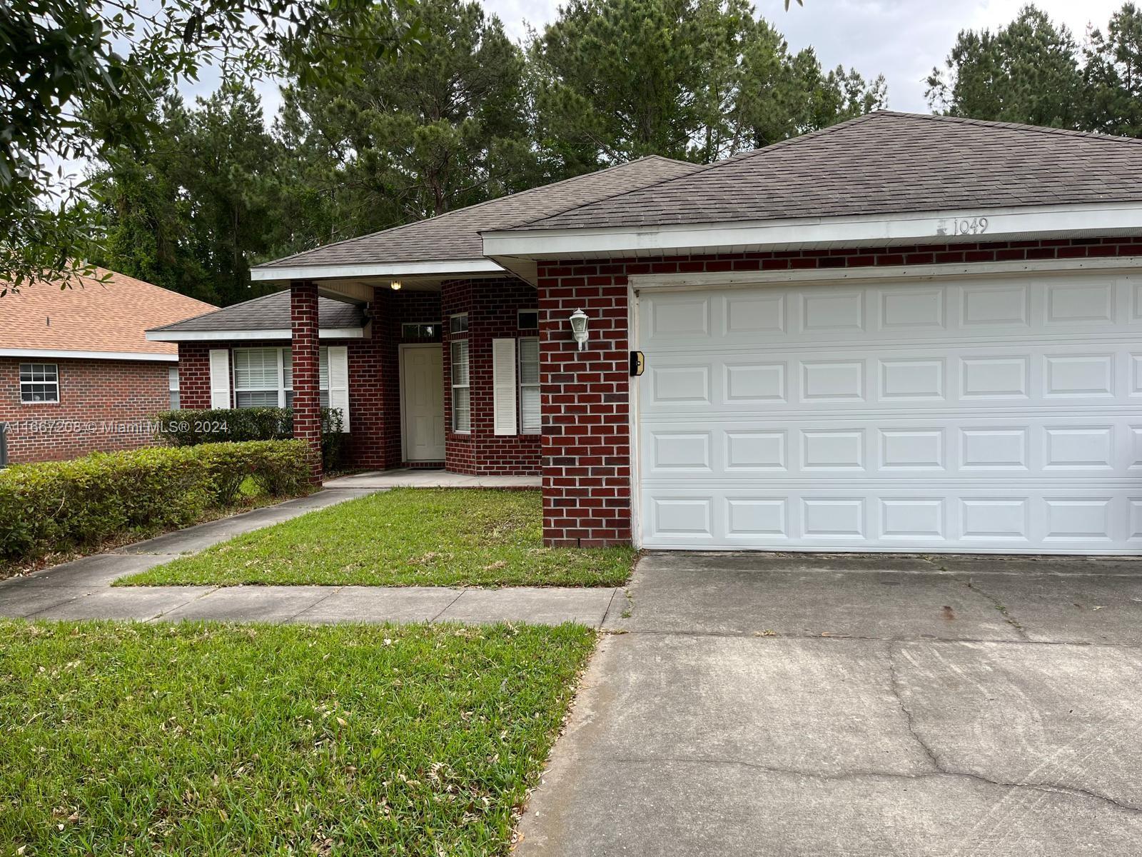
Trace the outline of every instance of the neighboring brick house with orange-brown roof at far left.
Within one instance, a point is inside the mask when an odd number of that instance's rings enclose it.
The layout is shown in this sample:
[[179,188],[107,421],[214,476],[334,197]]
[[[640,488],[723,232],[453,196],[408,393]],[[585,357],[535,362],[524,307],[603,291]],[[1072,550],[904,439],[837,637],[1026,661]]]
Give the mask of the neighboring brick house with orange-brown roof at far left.
[[215,307],[102,269],[95,277],[0,297],[8,463],[152,443],[147,422],[177,403],[178,351],[144,331]]

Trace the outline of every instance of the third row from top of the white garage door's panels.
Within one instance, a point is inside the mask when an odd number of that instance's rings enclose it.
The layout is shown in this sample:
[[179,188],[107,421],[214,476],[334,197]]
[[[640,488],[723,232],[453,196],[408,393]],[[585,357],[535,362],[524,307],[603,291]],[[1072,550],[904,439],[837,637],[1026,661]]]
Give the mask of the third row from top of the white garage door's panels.
[[[946,416],[939,422],[887,414],[862,421],[771,415],[763,419],[711,415],[658,421],[644,428],[643,475],[685,471],[710,482],[734,483],[787,475],[856,475],[874,481],[951,479],[1139,479],[1142,415],[1108,418],[1053,416],[1004,419]],[[1117,475],[1116,475],[1117,474]]]

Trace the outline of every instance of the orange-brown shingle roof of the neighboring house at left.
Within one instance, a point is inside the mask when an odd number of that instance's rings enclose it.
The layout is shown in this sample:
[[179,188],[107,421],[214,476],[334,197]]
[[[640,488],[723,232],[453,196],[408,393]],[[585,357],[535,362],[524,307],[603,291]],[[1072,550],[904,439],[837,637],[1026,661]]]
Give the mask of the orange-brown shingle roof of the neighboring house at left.
[[175,345],[148,342],[144,331],[214,309],[98,267],[95,278],[75,278],[65,289],[35,283],[0,297],[0,349],[177,354]]

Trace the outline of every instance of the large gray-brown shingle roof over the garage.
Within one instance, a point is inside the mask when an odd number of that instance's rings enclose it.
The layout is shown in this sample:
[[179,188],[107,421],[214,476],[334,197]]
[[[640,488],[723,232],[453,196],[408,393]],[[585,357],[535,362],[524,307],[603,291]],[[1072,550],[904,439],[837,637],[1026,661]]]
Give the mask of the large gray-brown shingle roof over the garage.
[[512,227],[1142,202],[1142,139],[879,111]]

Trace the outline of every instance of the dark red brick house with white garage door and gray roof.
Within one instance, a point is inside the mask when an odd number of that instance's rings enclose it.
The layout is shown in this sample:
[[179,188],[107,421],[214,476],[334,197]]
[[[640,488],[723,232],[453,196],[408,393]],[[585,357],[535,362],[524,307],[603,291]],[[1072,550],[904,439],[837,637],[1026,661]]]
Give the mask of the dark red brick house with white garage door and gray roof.
[[291,395],[316,443],[346,397],[360,466],[541,473],[552,545],[1142,546],[1142,141],[885,111],[254,277],[150,334],[188,406]]

